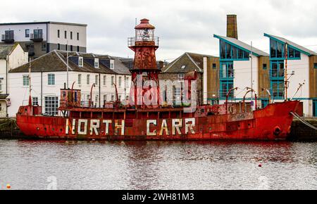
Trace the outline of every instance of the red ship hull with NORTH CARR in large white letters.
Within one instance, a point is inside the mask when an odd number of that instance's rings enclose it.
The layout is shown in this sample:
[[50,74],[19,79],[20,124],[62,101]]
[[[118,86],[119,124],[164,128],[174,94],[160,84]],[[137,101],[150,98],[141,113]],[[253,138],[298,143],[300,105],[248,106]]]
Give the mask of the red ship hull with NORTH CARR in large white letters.
[[104,120],[17,115],[26,137],[67,140],[285,140],[299,101],[269,104],[250,113],[193,118]]

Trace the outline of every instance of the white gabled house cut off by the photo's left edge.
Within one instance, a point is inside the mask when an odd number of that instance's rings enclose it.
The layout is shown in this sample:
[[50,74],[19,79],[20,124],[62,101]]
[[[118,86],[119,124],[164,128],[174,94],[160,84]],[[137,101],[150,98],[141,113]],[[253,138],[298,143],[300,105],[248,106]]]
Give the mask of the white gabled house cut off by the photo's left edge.
[[27,52],[20,44],[0,44],[0,117],[6,117],[7,107],[10,106],[8,91],[8,71],[27,63]]

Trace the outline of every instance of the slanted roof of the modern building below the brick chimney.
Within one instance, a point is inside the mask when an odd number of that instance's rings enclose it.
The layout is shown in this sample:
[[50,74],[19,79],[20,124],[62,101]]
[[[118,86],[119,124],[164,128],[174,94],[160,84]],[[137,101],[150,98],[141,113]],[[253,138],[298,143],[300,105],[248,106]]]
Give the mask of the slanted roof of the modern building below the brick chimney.
[[218,39],[222,39],[225,42],[228,42],[229,44],[232,44],[234,46],[237,46],[238,48],[247,51],[249,53],[254,53],[255,56],[269,56],[268,53],[261,51],[260,49],[255,48],[254,46],[250,46],[249,44],[246,44],[239,39],[235,39],[232,37],[223,37],[217,34],[213,34],[213,37],[216,37]]

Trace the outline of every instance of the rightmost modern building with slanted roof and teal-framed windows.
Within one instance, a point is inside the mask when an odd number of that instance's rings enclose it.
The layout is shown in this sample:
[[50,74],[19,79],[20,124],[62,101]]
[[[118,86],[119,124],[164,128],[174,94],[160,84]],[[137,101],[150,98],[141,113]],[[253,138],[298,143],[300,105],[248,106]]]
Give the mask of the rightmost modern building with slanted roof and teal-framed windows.
[[283,101],[286,97],[284,84],[287,66],[287,98],[302,101],[304,115],[316,117],[317,53],[283,37],[272,34],[264,36],[270,39],[270,67],[266,70],[269,77],[263,78],[264,84],[269,86],[275,101]]

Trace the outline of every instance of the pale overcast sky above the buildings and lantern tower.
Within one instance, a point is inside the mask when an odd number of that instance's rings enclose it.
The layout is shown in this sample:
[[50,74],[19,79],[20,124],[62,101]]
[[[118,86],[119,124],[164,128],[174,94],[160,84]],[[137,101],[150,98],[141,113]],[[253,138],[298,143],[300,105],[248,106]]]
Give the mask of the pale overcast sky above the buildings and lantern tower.
[[268,52],[266,32],[317,51],[316,0],[11,0],[0,8],[1,23],[86,23],[87,51],[112,56],[133,57],[127,38],[135,34],[135,18],[156,27],[158,60],[185,51],[218,56],[213,34],[226,34],[227,14],[237,14],[239,39],[258,49]]

